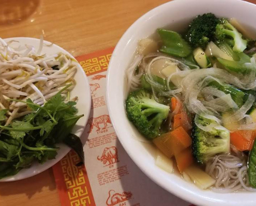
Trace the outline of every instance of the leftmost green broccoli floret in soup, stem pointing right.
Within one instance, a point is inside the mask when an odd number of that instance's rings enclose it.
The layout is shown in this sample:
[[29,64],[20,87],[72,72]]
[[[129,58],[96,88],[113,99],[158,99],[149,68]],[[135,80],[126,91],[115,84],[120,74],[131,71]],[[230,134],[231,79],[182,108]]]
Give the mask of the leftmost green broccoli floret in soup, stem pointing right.
[[131,92],[126,99],[129,120],[148,139],[161,134],[160,126],[169,114],[169,106],[159,104],[145,89]]

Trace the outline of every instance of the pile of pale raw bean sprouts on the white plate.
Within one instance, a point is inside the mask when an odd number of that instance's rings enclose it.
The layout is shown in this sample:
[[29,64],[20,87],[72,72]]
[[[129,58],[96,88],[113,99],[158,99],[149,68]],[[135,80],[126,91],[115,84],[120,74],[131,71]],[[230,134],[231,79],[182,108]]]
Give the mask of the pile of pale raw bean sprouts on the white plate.
[[69,99],[69,91],[76,83],[73,79],[77,72],[78,62],[68,55],[58,53],[42,54],[43,39],[39,49],[24,45],[12,47],[12,42],[0,38],[0,108],[8,109],[5,125],[15,118],[31,113],[24,102],[30,98],[35,104],[44,103],[72,83],[62,95]]

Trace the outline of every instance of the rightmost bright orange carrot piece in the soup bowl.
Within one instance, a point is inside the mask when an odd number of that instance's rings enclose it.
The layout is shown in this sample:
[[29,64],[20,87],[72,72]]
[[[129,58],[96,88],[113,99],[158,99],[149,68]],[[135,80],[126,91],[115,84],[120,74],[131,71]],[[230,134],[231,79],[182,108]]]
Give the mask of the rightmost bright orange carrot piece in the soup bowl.
[[230,142],[239,151],[251,150],[256,132],[252,130],[238,130],[230,133]]

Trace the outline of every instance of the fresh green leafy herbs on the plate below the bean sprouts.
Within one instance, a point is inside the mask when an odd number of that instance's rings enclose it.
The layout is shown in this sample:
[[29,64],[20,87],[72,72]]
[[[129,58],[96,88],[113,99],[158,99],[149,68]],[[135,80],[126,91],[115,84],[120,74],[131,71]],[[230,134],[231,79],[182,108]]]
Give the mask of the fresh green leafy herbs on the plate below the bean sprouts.
[[61,94],[71,85],[51,97],[43,107],[32,99],[8,99],[25,103],[32,113],[5,126],[8,110],[0,110],[0,179],[17,174],[35,161],[44,163],[54,159],[59,149],[57,143],[69,145],[83,161],[82,143],[76,135],[71,134],[83,115],[76,115],[76,102],[65,102]]

